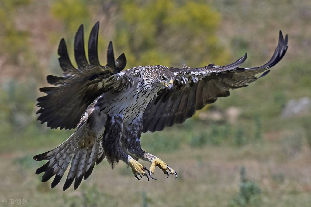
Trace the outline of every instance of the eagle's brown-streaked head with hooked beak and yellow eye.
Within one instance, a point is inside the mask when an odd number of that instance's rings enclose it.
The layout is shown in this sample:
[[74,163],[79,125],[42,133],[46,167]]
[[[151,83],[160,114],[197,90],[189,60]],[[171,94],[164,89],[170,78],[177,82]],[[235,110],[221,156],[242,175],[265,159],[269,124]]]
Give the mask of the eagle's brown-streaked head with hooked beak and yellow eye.
[[146,81],[154,87],[154,89],[168,88],[172,90],[174,87],[175,75],[168,67],[163,65],[146,66]]

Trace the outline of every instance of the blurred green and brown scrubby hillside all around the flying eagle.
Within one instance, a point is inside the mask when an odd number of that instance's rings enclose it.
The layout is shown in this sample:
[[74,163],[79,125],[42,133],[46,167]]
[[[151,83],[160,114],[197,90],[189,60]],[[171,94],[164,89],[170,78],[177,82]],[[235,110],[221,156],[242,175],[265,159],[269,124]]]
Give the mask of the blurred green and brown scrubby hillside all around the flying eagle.
[[[30,206],[310,206],[311,1],[0,1],[0,198]],[[137,181],[126,165],[104,161],[73,191],[51,190],[32,156],[73,131],[36,122],[38,90],[61,75],[57,48],[70,58],[80,24],[85,43],[100,21],[99,57],[113,41],[126,69],[140,65],[243,66],[272,56],[289,35],[283,60],[247,88],[231,91],[184,124],[142,135],[142,148],[179,173]],[[142,161],[142,164],[149,166]],[[16,203],[17,204],[17,203]]]

